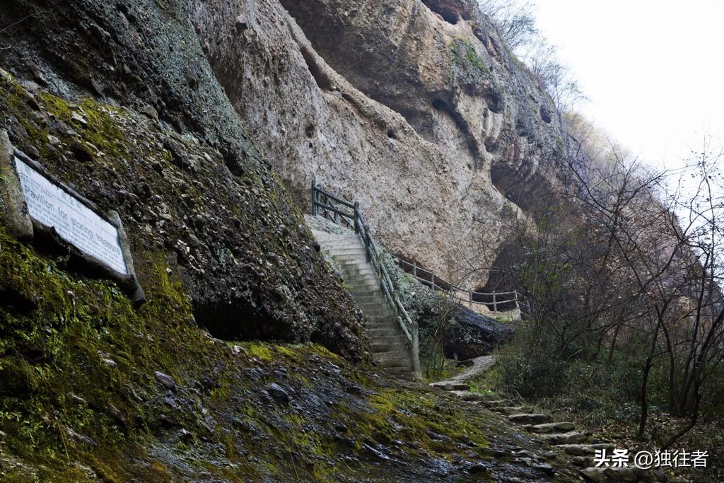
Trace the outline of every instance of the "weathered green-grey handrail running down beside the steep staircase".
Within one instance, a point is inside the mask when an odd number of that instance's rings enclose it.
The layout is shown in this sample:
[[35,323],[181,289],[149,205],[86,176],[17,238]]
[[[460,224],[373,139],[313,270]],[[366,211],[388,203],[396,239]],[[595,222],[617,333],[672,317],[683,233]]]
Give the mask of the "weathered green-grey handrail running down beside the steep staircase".
[[[365,219],[360,212],[359,203],[348,203],[347,201],[332,196],[332,194],[322,190],[319,185],[316,184],[316,181],[312,181],[311,191],[312,214],[314,216],[319,215],[320,211],[322,211],[323,214],[321,216],[330,219],[337,224],[340,224],[340,217],[342,217],[341,221],[345,222],[348,227],[353,227],[355,233],[362,239],[362,243],[365,246],[367,261],[374,266],[377,277],[380,281],[382,293],[384,294],[384,297],[387,298],[387,301],[390,303],[392,309],[395,311],[397,324],[399,324],[400,329],[402,329],[403,334],[405,334],[405,338],[411,348],[413,371],[415,371],[418,375],[421,374],[420,331],[418,324],[411,319],[402,302],[400,302],[397,287],[395,287],[395,284],[392,282],[392,278],[387,272],[387,267],[384,266],[383,252],[372,237],[369,225],[365,222]],[[342,206],[352,208],[354,213],[350,214],[346,211],[337,209],[337,207],[334,206],[334,203],[340,203]],[[330,214],[330,212],[332,214]]]

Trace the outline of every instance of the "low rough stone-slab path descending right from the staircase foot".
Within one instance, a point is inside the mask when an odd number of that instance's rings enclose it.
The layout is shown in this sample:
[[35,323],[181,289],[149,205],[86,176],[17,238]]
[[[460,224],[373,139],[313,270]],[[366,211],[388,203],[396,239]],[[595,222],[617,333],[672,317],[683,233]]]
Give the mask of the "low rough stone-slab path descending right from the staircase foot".
[[665,482],[667,477],[659,470],[642,470],[635,467],[623,468],[597,468],[594,463],[596,450],[606,450],[610,454],[615,445],[610,442],[597,440],[591,433],[576,431],[576,425],[570,421],[555,421],[548,413],[536,412],[533,406],[516,405],[513,400],[500,399],[492,395],[471,392],[465,383],[471,377],[487,371],[495,364],[494,356],[482,356],[474,360],[473,366],[458,376],[445,381],[433,382],[433,387],[450,391],[467,403],[487,408],[489,411],[500,413],[510,423],[520,426],[530,432],[534,439],[547,442],[552,451],[542,455],[535,455],[528,450],[519,450],[513,453],[518,461],[531,468],[539,469],[552,476],[555,469],[547,461],[562,457],[569,459],[573,465],[581,468],[580,476],[586,482],[613,483],[613,482]]

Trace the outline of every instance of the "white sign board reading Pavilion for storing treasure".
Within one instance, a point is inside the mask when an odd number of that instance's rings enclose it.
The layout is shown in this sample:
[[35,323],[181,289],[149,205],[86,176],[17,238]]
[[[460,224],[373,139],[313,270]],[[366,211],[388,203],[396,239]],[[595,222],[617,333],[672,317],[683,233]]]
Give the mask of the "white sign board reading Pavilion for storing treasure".
[[30,217],[46,227],[54,227],[63,240],[83,253],[120,274],[128,274],[116,227],[17,156],[15,166]]

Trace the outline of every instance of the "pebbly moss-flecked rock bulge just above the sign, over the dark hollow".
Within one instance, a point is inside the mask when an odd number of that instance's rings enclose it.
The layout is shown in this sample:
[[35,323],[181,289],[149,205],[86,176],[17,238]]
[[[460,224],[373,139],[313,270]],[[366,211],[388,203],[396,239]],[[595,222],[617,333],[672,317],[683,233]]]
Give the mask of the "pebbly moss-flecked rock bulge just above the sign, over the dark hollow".
[[141,285],[159,258],[180,277],[190,319],[218,337],[314,340],[365,356],[352,298],[251,145],[236,146],[246,167],[234,175],[193,131],[88,95],[69,101],[7,73],[0,112],[14,146],[104,211],[119,211]]

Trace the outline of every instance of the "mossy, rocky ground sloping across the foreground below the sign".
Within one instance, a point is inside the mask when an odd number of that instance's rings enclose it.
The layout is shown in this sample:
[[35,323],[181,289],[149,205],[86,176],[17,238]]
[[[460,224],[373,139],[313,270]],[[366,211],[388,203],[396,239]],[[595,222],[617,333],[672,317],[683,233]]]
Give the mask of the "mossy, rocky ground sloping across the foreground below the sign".
[[[157,262],[135,311],[0,230],[3,481],[551,481],[502,416],[319,345],[191,324]],[[573,481],[552,461],[556,481]]]

